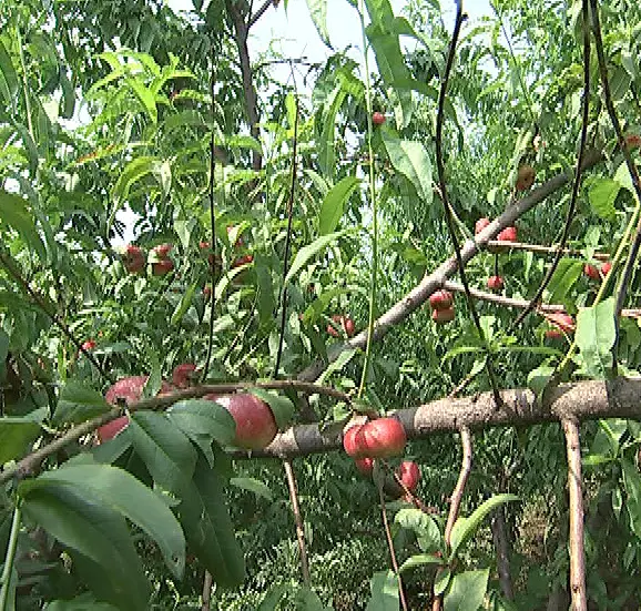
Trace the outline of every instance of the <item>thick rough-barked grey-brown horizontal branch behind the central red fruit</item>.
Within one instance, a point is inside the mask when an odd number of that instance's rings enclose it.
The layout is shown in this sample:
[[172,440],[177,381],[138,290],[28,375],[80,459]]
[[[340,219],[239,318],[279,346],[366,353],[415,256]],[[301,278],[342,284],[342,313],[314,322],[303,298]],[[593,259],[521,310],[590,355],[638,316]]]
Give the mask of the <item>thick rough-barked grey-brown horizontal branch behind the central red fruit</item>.
[[[399,409],[408,438],[418,439],[437,432],[457,431],[462,426],[480,429],[495,426],[523,426],[574,418],[641,419],[641,378],[611,381],[579,381],[550,389],[542,403],[527,389],[502,390],[497,407],[491,393],[458,399],[438,399],[419,407]],[[322,434],[318,425],[299,425],[276,436],[253,457],[293,458],[326,452],[342,447],[340,431]],[[247,457],[236,452],[236,457]]]

